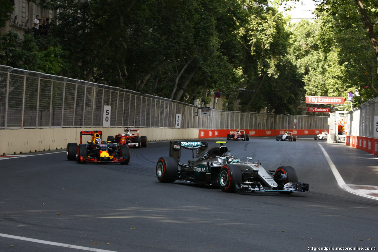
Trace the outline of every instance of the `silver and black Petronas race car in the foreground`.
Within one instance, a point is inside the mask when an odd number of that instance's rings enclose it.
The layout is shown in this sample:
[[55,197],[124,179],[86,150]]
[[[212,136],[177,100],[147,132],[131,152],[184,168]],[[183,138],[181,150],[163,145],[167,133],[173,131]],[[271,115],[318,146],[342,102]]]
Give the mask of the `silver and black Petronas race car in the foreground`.
[[[226,142],[208,146],[206,142],[172,142],[169,157],[161,157],[156,164],[156,177],[160,182],[175,180],[219,186],[225,192],[279,192],[290,194],[308,192],[308,184],[298,182],[296,171],[291,166],[265,170],[260,161],[240,161],[227,153]],[[192,150],[193,158],[180,163],[181,149]],[[196,155],[194,157],[194,151]]]

